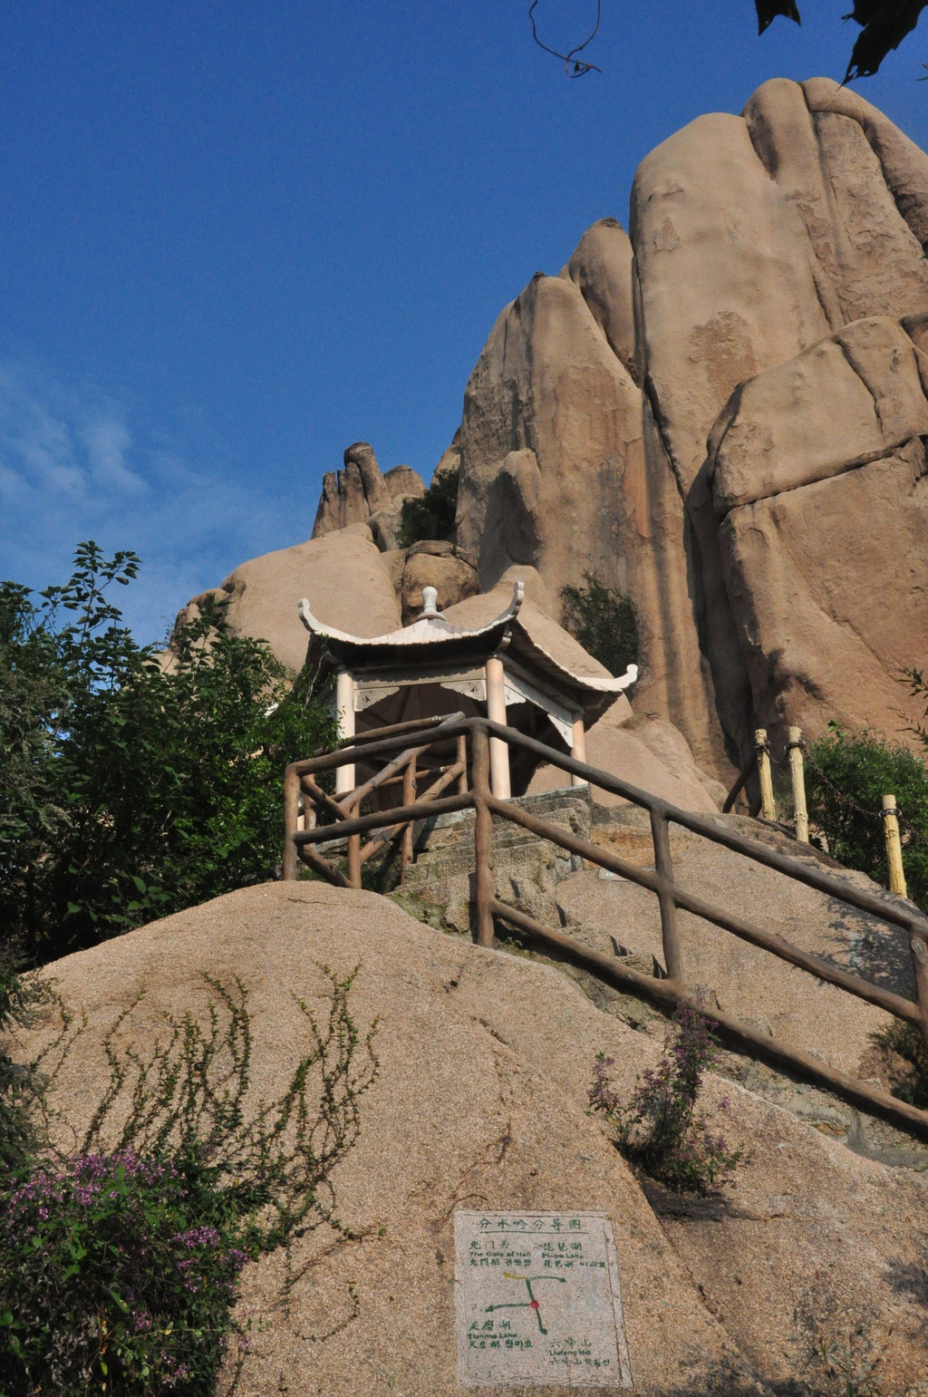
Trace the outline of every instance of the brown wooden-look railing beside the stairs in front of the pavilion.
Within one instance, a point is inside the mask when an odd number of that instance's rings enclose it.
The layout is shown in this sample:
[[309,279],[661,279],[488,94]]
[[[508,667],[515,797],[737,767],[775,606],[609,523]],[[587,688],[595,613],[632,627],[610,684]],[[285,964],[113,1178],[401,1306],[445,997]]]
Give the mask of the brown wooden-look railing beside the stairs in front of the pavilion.
[[[523,747],[539,760],[558,767],[561,771],[579,777],[600,789],[610,791],[649,812],[650,834],[654,852],[654,870],[639,868],[618,854],[608,852],[589,840],[578,838],[562,826],[540,820],[529,810],[509,800],[500,800],[490,789],[490,743],[504,742]],[[430,771],[431,784],[421,793],[417,791],[420,760],[426,753],[442,749],[454,753],[451,761],[441,760]],[[396,753],[396,756],[394,756]],[[371,778],[339,799],[322,791],[314,777],[349,764],[374,764],[374,759],[387,759],[385,766]],[[392,759],[392,760],[391,760]],[[467,773],[472,788],[467,789]],[[361,803],[375,791],[384,791],[389,784],[402,784],[402,803],[391,809],[360,813]],[[456,784],[455,795],[442,795],[449,785]],[[505,728],[486,718],[467,718],[452,714],[449,718],[424,719],[401,724],[395,728],[381,728],[364,738],[349,739],[338,750],[328,752],[306,761],[294,761],[285,777],[285,847],[283,877],[299,877],[300,862],[307,863],[318,875],[338,887],[360,887],[361,865],[389,841],[402,841],[402,869],[412,855],[412,827],[417,820],[428,820],[455,810],[474,810],[474,905],[476,940],[480,946],[493,946],[495,922],[505,922],[534,942],[555,950],[575,965],[590,971],[625,992],[634,992],[673,1010],[681,1002],[695,1003],[692,989],[685,982],[680,950],[677,911],[682,909],[714,926],[730,932],[740,940],[758,946],[780,960],[798,967],[816,979],[836,985],[839,989],[875,1004],[903,1023],[920,1028],[928,1046],[928,918],[915,907],[901,901],[890,902],[872,893],[851,887],[847,882],[816,868],[807,859],[798,859],[779,849],[761,844],[727,827],[710,816],[680,810],[668,800],[650,795],[608,771],[600,771],[583,761],[546,747],[515,728]],[[303,813],[300,813],[303,810]],[[325,813],[332,823],[315,824]],[[660,905],[661,942],[667,978],[645,975],[624,965],[621,960],[593,951],[567,932],[543,926],[534,918],[495,895],[493,882],[491,838],[494,816],[521,826],[539,838],[548,840],[561,848],[576,854],[600,868],[621,875],[639,887],[652,891]],[[300,828],[300,820],[304,827]],[[821,956],[814,956],[794,946],[783,936],[768,932],[747,918],[737,916],[720,907],[688,893],[674,882],[670,851],[670,826],[702,835],[713,844],[720,844],[735,854],[774,869],[797,883],[804,883],[819,893],[867,912],[901,930],[908,939],[911,954],[915,999],[907,999],[893,990],[871,983],[851,971],[833,965]],[[378,831],[378,833],[375,833]],[[367,844],[363,835],[374,834]],[[314,845],[342,840],[347,844],[347,876],[327,859]],[[844,1099],[865,1111],[881,1115],[897,1125],[928,1139],[928,1112],[908,1105],[889,1092],[858,1081],[846,1073],[830,1067],[791,1044],[758,1032],[721,1010],[713,1010],[712,1018],[719,1025],[719,1035],[737,1048],[747,1048],[774,1066],[794,1071],[805,1080],[819,1083],[836,1091]]]

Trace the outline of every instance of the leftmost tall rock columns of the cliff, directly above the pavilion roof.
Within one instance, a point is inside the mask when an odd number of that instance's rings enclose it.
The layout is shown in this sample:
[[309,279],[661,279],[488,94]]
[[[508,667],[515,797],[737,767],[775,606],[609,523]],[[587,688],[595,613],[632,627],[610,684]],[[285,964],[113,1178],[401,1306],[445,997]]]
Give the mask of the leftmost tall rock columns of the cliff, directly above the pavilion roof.
[[558,599],[585,570],[627,583],[622,481],[641,476],[641,393],[608,337],[629,353],[629,250],[618,226],[592,235],[567,277],[539,274],[507,306],[467,383],[458,542],[484,590],[512,564],[537,567]]

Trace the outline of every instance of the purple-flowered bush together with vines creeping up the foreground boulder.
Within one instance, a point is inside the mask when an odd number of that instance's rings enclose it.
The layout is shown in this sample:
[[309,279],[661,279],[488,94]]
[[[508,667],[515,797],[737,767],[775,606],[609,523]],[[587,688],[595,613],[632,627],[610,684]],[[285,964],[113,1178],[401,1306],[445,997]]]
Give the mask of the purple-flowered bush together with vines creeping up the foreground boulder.
[[[306,1231],[347,1229],[328,1179],[359,1133],[377,1073],[349,1011],[357,971],[329,979],[328,1023],[300,1003],[308,1045],[285,1092],[248,1109],[243,986],[211,981],[208,1025],[167,1020],[145,1058],[105,1038],[110,1078],[80,1153],[47,1157],[0,1197],[0,1397],[212,1397],[243,1266]],[[359,1059],[359,1049],[361,1051]],[[327,1192],[328,1190],[328,1192]]]

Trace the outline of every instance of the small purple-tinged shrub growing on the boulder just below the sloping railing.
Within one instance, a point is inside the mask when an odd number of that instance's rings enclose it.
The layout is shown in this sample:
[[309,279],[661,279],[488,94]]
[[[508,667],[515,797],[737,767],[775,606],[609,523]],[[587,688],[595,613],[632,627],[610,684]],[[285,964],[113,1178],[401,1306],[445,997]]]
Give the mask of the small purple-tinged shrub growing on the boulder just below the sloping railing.
[[[713,1025],[701,1009],[702,996],[696,1007],[678,1006],[673,1044],[654,1070],[642,1073],[627,1105],[608,1080],[615,1060],[599,1053],[589,1101],[613,1126],[628,1160],[671,1189],[705,1194],[730,1183],[747,1154],[741,1146],[730,1148],[724,1136],[713,1134],[708,1119],[696,1115],[702,1078],[716,1062]],[[728,1108],[727,1098],[721,1105]]]

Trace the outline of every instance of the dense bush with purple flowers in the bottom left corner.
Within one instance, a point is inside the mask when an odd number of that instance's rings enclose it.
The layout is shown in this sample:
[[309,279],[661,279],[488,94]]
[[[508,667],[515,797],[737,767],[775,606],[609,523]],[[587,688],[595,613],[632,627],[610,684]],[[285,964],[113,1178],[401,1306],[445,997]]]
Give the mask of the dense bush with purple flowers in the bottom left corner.
[[39,1169],[0,1217],[4,1397],[207,1393],[254,1255],[197,1160],[85,1154]]

